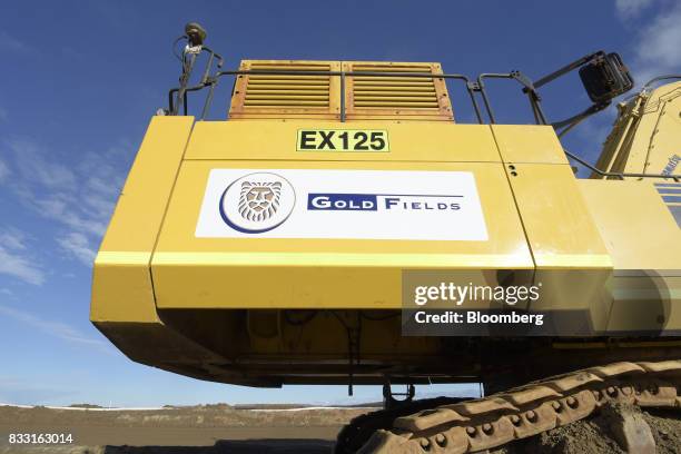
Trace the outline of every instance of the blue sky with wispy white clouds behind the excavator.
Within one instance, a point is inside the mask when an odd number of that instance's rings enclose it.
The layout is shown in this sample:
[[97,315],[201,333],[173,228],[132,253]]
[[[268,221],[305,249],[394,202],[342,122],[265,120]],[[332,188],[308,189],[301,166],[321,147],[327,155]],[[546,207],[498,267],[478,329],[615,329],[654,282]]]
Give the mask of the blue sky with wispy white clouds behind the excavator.
[[[441,61],[447,72],[537,78],[598,49],[619,51],[638,82],[681,67],[678,1],[4,1],[0,403],[347,401],[344,387],[255,389],[138,365],[88,320],[91,260],[149,118],[177,82],[170,43],[191,20],[227,68],[241,58]],[[527,121],[520,91],[502,87],[491,88],[500,122]],[[213,118],[224,118],[229,89]],[[554,120],[588,102],[576,76],[544,100]],[[613,117],[588,121],[566,147],[593,160]],[[378,396],[363,387],[353,402]]]

